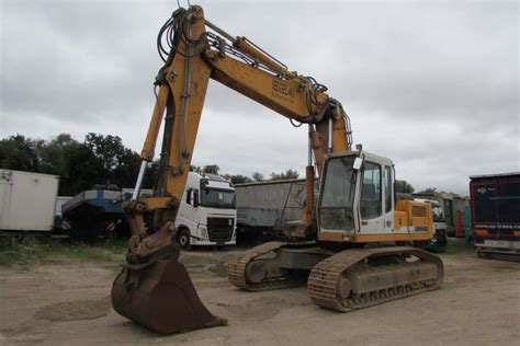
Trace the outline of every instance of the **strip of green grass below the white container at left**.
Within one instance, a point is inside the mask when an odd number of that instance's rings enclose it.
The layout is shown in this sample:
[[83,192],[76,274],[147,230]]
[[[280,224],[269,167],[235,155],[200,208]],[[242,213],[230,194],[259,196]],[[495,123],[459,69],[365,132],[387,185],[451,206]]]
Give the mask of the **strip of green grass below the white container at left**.
[[68,262],[118,262],[126,241],[80,242],[71,240],[3,238],[0,239],[0,266],[37,265]]

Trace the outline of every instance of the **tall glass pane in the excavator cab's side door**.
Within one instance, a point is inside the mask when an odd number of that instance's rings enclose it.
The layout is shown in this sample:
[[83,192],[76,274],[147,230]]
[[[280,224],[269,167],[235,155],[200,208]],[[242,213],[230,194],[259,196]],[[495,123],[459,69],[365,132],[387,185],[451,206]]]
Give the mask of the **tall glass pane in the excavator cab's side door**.
[[373,219],[381,216],[381,166],[365,162],[361,191],[361,218]]

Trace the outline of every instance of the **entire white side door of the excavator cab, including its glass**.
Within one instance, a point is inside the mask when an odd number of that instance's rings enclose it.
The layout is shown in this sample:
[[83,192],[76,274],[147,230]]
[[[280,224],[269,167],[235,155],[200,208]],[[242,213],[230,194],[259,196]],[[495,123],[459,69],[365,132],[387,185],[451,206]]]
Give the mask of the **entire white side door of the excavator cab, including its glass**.
[[361,234],[385,233],[385,214],[383,212],[383,169],[375,162],[365,161],[361,177]]

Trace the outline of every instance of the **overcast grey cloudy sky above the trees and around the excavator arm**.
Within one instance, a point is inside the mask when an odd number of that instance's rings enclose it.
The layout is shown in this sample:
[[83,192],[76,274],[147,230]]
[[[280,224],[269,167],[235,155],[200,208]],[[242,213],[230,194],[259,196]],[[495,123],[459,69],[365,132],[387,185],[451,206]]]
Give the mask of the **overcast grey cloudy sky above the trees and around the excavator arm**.
[[[93,131],[140,152],[177,2],[0,1],[0,137]],[[518,2],[191,3],[326,84],[354,143],[416,189],[467,195],[468,175],[520,171]],[[194,164],[303,174],[306,146],[306,127],[210,84]]]

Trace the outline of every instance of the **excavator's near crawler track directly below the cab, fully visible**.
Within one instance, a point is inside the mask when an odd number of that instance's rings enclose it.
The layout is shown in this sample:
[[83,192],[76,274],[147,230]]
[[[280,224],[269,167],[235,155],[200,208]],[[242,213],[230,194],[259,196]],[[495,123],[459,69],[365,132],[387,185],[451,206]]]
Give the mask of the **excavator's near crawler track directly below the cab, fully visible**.
[[[366,258],[378,257],[383,260],[392,256],[414,255],[419,258],[416,263],[388,263],[378,266],[370,266]],[[433,265],[436,267],[433,267]],[[425,278],[419,274],[421,270],[437,269],[437,275]],[[382,287],[381,277],[388,275],[389,272],[406,273],[409,280],[398,282],[395,286]],[[414,280],[416,275],[417,280]],[[363,289],[362,292],[350,291],[344,297],[340,291],[340,281],[342,278],[355,280],[359,277],[370,277],[366,282],[373,285],[374,289]],[[380,276],[380,277],[378,277]],[[437,289],[440,287],[443,278],[443,266],[441,260],[422,250],[414,247],[383,247],[366,250],[347,250],[337,253],[327,260],[318,263],[308,277],[307,290],[310,299],[319,307],[341,312],[363,309],[380,304],[386,301],[421,293],[423,291]]]

